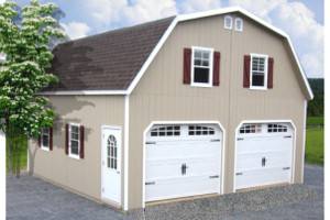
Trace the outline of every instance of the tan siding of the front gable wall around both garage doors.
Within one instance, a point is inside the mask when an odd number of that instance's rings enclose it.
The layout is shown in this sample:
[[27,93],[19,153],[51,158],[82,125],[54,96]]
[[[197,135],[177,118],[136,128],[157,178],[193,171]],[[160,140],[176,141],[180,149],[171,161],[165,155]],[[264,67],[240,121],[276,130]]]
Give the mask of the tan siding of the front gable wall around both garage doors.
[[[283,37],[241,15],[243,32],[223,29],[223,15],[179,23],[130,96],[129,208],[142,206],[143,131],[152,121],[219,121],[226,129],[224,193],[233,190],[234,132],[242,120],[293,120],[297,127],[296,175],[301,182],[304,94]],[[183,48],[221,53],[220,87],[183,84]],[[243,88],[243,55],[274,57],[274,89]]]

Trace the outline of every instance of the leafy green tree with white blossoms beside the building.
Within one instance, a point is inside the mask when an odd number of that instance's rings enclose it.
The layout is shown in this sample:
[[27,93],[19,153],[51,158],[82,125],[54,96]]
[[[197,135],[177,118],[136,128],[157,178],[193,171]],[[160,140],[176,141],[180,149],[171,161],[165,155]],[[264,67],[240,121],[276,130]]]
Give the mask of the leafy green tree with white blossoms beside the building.
[[65,36],[54,18],[57,7],[31,0],[20,10],[7,1],[0,6],[0,130],[6,133],[9,169],[20,176],[18,140],[37,138],[42,128],[53,125],[55,112],[48,100],[37,94],[57,79],[48,73],[54,38]]

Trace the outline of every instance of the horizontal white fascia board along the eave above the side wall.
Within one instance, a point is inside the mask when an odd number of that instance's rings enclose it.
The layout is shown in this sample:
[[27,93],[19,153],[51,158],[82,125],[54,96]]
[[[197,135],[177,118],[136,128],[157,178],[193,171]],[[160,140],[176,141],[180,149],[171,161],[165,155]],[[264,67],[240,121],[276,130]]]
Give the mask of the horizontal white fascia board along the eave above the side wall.
[[76,91],[43,91],[38,92],[38,95],[44,96],[96,96],[96,95],[127,95],[127,90],[76,90]]

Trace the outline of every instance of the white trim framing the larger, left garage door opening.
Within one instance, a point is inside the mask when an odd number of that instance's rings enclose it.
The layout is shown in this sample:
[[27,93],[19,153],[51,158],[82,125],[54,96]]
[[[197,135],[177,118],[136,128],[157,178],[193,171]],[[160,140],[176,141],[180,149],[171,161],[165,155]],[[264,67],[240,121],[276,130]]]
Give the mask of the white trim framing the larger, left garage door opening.
[[226,130],[224,127],[219,121],[152,121],[143,131],[143,143],[142,143],[142,208],[145,208],[145,147],[146,147],[146,134],[150,131],[150,129],[155,124],[217,124],[219,125],[220,130],[222,131],[222,146],[221,146],[221,179],[219,186],[218,194],[224,193],[224,154],[226,154]]

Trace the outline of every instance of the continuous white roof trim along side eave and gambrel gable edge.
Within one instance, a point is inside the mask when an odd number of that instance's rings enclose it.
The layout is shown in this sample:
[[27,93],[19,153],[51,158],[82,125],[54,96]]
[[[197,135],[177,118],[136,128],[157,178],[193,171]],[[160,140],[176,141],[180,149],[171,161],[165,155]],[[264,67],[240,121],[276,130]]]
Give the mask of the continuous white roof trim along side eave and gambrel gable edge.
[[293,52],[294,58],[298,65],[299,73],[300,73],[302,81],[305,84],[305,88],[308,92],[307,99],[311,100],[314,98],[312,90],[309,86],[309,82],[308,82],[307,76],[302,69],[302,66],[299,63],[297,53],[295,52],[295,48],[292,44],[292,40],[290,40],[289,35],[287,33],[285,33],[284,31],[273,26],[272,24],[265,22],[264,20],[260,19],[258,16],[254,15],[253,13],[251,13],[240,7],[229,7],[229,8],[216,9],[216,10],[211,10],[211,11],[177,15],[172,21],[170,25],[167,28],[167,30],[165,31],[165,33],[163,34],[163,36],[161,37],[160,42],[154,47],[152,53],[148,55],[148,57],[146,58],[146,61],[144,62],[141,69],[139,70],[135,78],[132,80],[132,82],[130,84],[130,86],[127,90],[47,91],[47,92],[41,92],[41,95],[130,95],[130,94],[132,94],[132,91],[134,90],[136,85],[139,84],[140,79],[142,78],[142,76],[144,75],[144,73],[146,72],[146,69],[148,68],[151,63],[153,62],[153,59],[156,57],[157,53],[161,51],[161,48],[163,47],[166,40],[168,38],[168,36],[170,35],[170,33],[173,32],[173,30],[175,29],[175,26],[177,25],[178,22],[201,19],[201,18],[207,18],[207,16],[213,16],[213,15],[220,15],[220,14],[224,14],[224,13],[233,13],[233,12],[240,12],[240,13],[246,15],[248,18],[252,19],[253,21],[262,24],[263,26],[272,30],[273,32],[275,32],[275,33],[282,35],[284,38],[286,38],[286,41]]

